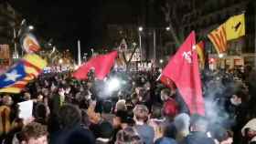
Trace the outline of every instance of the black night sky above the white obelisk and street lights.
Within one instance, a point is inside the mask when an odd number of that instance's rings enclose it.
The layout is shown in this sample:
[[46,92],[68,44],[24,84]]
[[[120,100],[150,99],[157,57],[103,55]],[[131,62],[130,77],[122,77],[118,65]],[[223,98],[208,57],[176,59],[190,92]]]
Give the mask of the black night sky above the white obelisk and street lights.
[[11,0],[10,4],[35,26],[37,36],[60,49],[76,52],[80,39],[82,51],[101,48],[106,25],[133,23],[138,14],[137,0]]

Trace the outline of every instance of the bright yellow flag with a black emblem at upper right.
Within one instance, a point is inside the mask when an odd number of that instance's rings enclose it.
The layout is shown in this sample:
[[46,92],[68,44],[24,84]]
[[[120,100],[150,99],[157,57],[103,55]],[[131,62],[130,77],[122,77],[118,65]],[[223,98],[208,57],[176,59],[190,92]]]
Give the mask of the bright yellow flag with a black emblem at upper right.
[[224,23],[227,40],[237,39],[245,35],[244,14],[234,15]]

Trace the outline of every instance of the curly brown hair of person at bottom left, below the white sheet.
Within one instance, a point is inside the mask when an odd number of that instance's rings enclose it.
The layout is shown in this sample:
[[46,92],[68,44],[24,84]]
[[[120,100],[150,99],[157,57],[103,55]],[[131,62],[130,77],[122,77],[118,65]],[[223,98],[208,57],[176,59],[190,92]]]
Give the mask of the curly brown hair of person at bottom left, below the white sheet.
[[42,136],[48,136],[47,126],[37,122],[31,122],[21,130],[22,140],[38,139]]

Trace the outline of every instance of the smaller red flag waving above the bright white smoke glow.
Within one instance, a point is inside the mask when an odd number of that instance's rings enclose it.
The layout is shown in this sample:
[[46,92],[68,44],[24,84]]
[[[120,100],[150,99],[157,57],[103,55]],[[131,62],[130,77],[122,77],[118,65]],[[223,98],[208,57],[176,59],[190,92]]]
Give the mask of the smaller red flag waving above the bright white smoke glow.
[[95,77],[104,79],[110,73],[117,57],[117,51],[113,51],[106,55],[92,57],[88,62],[82,64],[74,73],[73,77],[77,79],[88,79],[87,74],[91,69],[95,70]]

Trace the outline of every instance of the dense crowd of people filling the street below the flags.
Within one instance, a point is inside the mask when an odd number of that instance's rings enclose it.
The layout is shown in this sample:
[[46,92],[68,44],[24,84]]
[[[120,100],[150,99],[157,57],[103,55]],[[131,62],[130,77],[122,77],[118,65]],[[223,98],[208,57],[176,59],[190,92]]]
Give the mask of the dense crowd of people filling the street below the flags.
[[[156,81],[156,72],[42,74],[22,93],[0,94],[4,144],[241,144],[256,143],[255,72],[202,72],[206,115],[190,115],[178,89]],[[19,118],[18,102],[33,100],[33,117]]]

